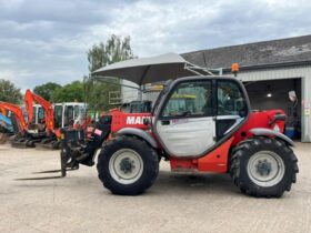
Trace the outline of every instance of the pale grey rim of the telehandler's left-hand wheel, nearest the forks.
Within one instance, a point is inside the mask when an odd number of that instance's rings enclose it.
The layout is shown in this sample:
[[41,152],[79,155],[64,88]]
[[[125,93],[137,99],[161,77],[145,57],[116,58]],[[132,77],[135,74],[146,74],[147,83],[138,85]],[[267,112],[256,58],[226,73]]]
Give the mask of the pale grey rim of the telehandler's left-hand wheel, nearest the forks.
[[111,176],[121,184],[138,181],[143,171],[143,162],[139,153],[131,149],[114,152],[109,161]]

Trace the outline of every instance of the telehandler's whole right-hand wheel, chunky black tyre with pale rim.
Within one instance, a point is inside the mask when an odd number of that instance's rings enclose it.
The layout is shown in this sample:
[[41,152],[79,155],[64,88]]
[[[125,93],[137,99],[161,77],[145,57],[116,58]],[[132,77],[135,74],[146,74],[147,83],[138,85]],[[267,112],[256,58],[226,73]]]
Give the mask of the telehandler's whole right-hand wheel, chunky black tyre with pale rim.
[[297,162],[291,148],[282,141],[253,138],[233,150],[230,175],[243,193],[280,197],[295,183]]

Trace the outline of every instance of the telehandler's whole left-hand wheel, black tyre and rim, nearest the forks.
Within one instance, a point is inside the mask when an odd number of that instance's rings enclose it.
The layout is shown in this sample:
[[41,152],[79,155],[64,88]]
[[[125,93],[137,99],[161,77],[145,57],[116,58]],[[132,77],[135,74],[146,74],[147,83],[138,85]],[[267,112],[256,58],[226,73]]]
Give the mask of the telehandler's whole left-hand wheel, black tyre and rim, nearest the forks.
[[99,179],[114,194],[138,195],[153,184],[159,173],[158,160],[158,154],[146,141],[117,138],[99,154]]

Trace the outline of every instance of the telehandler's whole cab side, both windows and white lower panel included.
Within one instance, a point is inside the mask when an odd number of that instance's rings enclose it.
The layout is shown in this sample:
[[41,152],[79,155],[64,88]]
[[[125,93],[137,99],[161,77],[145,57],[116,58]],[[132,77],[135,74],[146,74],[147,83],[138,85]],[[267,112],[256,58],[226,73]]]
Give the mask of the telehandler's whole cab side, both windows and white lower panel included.
[[160,103],[153,130],[170,155],[197,158],[232,136],[247,121],[250,104],[238,80],[183,80]]

